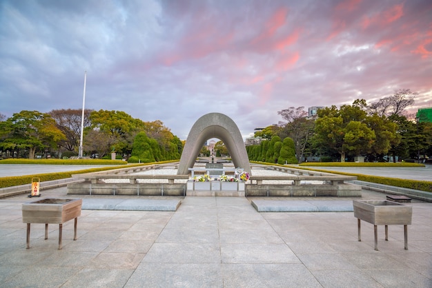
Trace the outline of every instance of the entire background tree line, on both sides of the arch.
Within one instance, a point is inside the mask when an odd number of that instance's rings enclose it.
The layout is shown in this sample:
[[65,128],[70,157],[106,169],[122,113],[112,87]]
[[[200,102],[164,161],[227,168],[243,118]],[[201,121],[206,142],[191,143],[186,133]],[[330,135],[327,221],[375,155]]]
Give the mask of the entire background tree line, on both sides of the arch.
[[[251,161],[301,163],[311,161],[396,161],[432,155],[432,123],[406,113],[417,93],[396,90],[373,103],[357,99],[351,105],[324,107],[308,117],[304,107],[278,111],[284,121],[255,132],[262,141],[248,145]],[[0,114],[0,158],[61,158],[78,155],[81,110],[48,113],[21,111],[6,119]],[[417,119],[421,120],[421,119]],[[109,157],[116,152],[129,162],[179,159],[184,143],[161,121],[141,121],[120,111],[85,110],[85,156]],[[216,156],[228,154],[224,143]],[[202,154],[209,152],[202,150]]]

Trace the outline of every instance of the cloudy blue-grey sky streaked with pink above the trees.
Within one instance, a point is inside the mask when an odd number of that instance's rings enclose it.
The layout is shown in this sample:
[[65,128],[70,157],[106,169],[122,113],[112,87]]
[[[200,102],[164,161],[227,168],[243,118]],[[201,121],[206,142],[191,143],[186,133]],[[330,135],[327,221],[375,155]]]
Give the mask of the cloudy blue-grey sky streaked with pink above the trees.
[[244,137],[279,110],[432,106],[431,0],[1,0],[0,113],[118,110],[185,140],[200,116]]

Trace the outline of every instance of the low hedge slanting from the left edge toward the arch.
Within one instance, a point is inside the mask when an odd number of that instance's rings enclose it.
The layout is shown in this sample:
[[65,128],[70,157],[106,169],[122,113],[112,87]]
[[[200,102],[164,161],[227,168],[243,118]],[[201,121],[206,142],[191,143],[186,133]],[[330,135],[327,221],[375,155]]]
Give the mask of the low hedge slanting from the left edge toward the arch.
[[[124,161],[121,161],[121,162],[124,162]],[[145,166],[145,165],[155,165],[155,164],[164,164],[164,163],[171,163],[171,162],[177,162],[177,161],[161,161],[161,162],[153,162],[153,163],[139,163],[139,164],[128,165],[128,167]],[[33,175],[23,175],[23,176],[1,177],[0,178],[0,188],[30,184],[30,183],[32,183],[32,178],[39,178],[39,180],[41,182],[43,182],[43,181],[52,181],[52,180],[59,180],[59,179],[63,179],[63,178],[70,178],[70,177],[72,177],[72,174],[84,174],[84,173],[92,173],[92,172],[106,171],[106,170],[112,170],[112,169],[119,169],[119,168],[124,168],[123,166],[124,165],[91,168],[91,169],[69,171],[69,172],[57,172],[57,173],[44,173],[44,174],[33,174]]]

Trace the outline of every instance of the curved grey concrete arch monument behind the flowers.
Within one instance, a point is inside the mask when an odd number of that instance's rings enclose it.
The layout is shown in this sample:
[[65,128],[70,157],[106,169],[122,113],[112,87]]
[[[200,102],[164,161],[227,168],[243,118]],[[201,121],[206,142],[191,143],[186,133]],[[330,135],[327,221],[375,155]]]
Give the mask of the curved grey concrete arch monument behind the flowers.
[[244,147],[242,134],[235,122],[221,113],[209,113],[201,116],[190,129],[186,145],[181,153],[178,175],[189,174],[188,168],[195,164],[199,151],[209,138],[218,138],[224,142],[235,167],[251,173],[248,153]]

